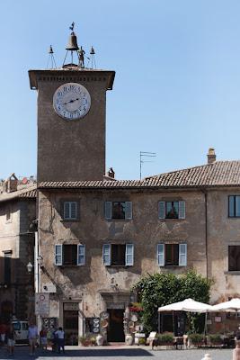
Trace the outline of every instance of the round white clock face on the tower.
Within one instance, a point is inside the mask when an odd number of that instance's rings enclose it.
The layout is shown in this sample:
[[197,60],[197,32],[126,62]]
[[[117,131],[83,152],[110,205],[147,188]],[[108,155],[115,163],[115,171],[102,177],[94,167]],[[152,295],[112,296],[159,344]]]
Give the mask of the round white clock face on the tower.
[[61,85],[53,95],[54,110],[67,121],[83,118],[89,112],[90,106],[90,94],[80,84]]

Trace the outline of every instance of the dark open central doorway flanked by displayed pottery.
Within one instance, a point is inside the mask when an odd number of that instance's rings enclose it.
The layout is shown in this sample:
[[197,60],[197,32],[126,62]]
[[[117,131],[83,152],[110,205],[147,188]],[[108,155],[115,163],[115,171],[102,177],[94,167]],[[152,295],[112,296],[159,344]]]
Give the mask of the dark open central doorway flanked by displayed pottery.
[[107,311],[109,312],[108,341],[124,342],[123,309],[108,309]]

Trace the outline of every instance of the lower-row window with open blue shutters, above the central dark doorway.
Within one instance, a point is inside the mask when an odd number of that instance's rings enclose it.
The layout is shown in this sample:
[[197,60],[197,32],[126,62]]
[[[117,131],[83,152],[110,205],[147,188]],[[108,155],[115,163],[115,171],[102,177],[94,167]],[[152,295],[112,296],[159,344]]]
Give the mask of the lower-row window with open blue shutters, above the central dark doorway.
[[102,259],[105,266],[133,266],[133,244],[104,244]]

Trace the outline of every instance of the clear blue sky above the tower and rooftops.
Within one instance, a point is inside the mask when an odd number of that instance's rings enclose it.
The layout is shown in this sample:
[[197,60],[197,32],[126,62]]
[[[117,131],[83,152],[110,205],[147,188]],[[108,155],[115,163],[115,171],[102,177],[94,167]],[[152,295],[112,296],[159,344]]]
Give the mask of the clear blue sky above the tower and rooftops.
[[107,167],[139,177],[139,151],[157,153],[143,175],[240,157],[238,0],[63,0],[1,3],[0,178],[36,174],[37,93],[28,69],[58,66],[68,26],[116,70],[107,94]]

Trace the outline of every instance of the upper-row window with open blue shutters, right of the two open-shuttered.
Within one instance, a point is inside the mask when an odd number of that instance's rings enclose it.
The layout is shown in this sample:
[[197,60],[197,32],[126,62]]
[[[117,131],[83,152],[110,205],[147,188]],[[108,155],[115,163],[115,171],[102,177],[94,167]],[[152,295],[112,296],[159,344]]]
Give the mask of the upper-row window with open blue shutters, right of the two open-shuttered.
[[158,202],[159,219],[185,219],[185,202]]

